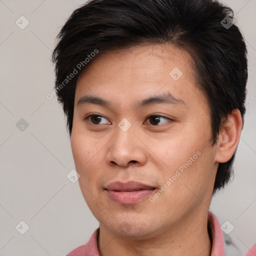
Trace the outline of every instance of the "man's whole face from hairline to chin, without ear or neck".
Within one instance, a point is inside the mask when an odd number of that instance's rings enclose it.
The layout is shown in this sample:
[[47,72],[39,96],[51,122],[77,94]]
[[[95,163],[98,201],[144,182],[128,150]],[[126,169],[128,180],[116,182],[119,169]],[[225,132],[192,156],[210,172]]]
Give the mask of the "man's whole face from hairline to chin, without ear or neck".
[[210,137],[209,107],[185,51],[111,51],[78,78],[71,148],[79,185],[114,234],[149,237],[208,211],[217,169]]

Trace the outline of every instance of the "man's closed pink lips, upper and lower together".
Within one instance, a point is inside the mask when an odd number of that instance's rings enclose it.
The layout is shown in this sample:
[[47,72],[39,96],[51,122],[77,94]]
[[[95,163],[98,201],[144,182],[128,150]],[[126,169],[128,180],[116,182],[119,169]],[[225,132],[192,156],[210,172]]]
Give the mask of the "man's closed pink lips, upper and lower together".
[[119,204],[133,204],[153,193],[156,188],[137,181],[112,182],[105,188],[107,195]]

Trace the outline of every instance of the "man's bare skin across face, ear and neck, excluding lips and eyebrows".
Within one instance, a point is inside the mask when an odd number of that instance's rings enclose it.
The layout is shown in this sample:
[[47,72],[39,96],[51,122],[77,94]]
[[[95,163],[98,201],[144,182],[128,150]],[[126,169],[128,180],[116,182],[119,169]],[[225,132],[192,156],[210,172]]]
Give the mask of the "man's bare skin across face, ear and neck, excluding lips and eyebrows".
[[[178,80],[169,75],[174,67],[183,73]],[[186,105],[134,108],[136,101],[163,92]],[[77,106],[85,95],[108,100],[111,107]],[[83,120],[92,113],[101,119]],[[149,114],[157,114],[159,123]],[[131,124],[126,131],[118,126],[123,118]],[[76,84],[71,148],[81,192],[99,221],[100,255],[210,255],[207,214],[216,170],[234,153],[241,127],[236,109],[211,146],[209,106],[186,51],[170,44],[139,45],[93,59]],[[200,156],[153,202],[146,197],[121,205],[104,190],[117,180],[160,189],[198,151]]]

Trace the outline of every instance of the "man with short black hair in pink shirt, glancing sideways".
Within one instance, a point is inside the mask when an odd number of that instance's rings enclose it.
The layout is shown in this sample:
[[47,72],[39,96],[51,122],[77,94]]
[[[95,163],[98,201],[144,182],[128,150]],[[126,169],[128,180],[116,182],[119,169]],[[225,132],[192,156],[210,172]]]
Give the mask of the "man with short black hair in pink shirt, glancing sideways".
[[208,209],[232,173],[245,112],[247,51],[232,10],[91,0],[58,39],[55,89],[99,221],[68,255],[224,255]]

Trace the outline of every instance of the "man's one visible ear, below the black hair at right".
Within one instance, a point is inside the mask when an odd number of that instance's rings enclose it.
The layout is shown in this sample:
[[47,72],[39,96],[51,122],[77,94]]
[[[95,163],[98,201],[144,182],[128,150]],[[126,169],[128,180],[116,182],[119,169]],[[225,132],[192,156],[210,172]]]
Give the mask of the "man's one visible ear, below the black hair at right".
[[240,139],[241,129],[241,113],[239,109],[235,109],[227,116],[224,127],[219,133],[215,153],[216,162],[227,162],[232,157]]

